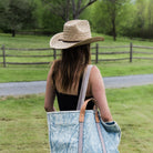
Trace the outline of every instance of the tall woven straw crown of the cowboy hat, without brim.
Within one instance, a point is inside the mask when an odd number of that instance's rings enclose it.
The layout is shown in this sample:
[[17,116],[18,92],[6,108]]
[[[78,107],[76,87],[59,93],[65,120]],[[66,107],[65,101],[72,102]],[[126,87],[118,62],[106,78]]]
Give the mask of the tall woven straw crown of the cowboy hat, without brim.
[[63,41],[82,41],[90,38],[91,30],[86,20],[71,20],[64,23]]

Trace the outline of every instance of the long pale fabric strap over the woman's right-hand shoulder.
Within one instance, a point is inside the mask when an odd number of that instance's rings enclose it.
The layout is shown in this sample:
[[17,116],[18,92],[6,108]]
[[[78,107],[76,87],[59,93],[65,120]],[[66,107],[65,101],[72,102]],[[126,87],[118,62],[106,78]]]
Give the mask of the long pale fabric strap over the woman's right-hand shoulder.
[[92,64],[89,64],[86,70],[84,71],[81,90],[80,90],[80,95],[78,99],[76,110],[81,109],[81,105],[83,104],[83,102],[85,100],[85,94],[86,94],[86,89],[88,89],[88,83],[89,83],[89,78],[90,78],[90,72],[91,72],[92,67],[93,67]]

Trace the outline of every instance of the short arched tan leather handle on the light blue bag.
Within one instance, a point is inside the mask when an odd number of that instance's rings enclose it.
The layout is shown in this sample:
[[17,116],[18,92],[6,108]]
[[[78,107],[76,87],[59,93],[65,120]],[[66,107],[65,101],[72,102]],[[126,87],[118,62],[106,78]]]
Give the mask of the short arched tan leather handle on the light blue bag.
[[91,99],[88,99],[83,105],[81,106],[81,110],[80,110],[80,118],[79,118],[79,122],[84,122],[84,115],[85,115],[85,110],[86,110],[86,105],[90,101],[93,101],[94,102],[94,110],[95,110],[95,122],[96,123],[100,123],[100,119],[99,119],[99,114],[98,114],[98,106],[96,106],[96,103],[98,101],[93,98]]

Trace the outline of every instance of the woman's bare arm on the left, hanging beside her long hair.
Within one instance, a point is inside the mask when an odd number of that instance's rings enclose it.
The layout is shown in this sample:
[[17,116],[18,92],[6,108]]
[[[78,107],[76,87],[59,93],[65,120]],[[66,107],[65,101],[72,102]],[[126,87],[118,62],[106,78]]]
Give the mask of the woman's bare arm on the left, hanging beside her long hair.
[[47,112],[55,111],[53,108],[54,98],[55,98],[55,89],[52,81],[52,70],[53,64],[49,71],[48,79],[47,79],[47,86],[45,86],[45,98],[44,98],[44,110]]

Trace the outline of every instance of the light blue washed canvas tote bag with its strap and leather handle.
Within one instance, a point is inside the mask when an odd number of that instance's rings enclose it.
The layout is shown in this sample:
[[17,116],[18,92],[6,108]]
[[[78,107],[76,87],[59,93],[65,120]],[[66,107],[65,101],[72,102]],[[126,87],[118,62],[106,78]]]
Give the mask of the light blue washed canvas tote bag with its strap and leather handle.
[[[90,70],[83,75],[76,111],[48,112],[51,153],[119,153],[121,130],[116,122],[105,123],[98,108],[85,110]],[[96,105],[96,101],[92,99]],[[81,108],[81,109],[80,109]]]

